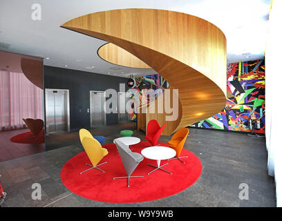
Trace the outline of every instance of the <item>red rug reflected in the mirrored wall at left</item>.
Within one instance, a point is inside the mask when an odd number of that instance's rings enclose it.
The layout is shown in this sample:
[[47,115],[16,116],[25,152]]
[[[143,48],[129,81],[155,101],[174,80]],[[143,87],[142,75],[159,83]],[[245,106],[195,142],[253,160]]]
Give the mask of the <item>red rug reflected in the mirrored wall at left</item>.
[[37,137],[33,137],[30,131],[26,133],[20,133],[10,138],[11,142],[20,144],[43,144],[44,143],[44,130],[42,130]]

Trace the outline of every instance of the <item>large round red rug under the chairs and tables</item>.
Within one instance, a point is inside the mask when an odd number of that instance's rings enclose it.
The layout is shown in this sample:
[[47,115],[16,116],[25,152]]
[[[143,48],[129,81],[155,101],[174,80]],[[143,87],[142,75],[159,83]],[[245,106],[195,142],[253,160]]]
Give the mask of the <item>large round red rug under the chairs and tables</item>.
[[[139,144],[132,145],[131,150],[140,153],[143,148],[147,147],[146,144],[149,143],[142,141]],[[164,143],[158,144],[167,146]],[[92,169],[80,174],[80,172],[90,168],[85,163],[91,164],[91,162],[85,152],[79,153],[68,160],[62,168],[61,179],[66,188],[83,198],[100,202],[146,202],[166,198],[187,189],[198,180],[202,173],[202,164],[198,157],[183,148],[182,155],[188,156],[188,158],[182,158],[185,164],[182,164],[179,160],[162,160],[160,162],[160,165],[169,162],[163,169],[172,174],[158,169],[147,175],[154,169],[147,164],[156,165],[156,160],[149,160],[144,157],[144,160],[132,173],[133,176],[143,175],[144,177],[131,178],[130,187],[127,187],[127,179],[113,180],[113,177],[126,176],[115,144],[105,144],[103,147],[109,151],[109,154],[100,162],[107,163],[99,166],[105,173]]]

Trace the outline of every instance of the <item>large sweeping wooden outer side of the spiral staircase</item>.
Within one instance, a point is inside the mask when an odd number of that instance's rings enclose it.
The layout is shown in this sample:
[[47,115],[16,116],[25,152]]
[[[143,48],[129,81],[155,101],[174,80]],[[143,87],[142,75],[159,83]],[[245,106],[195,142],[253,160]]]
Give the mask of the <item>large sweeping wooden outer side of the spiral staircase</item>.
[[77,17],[62,27],[124,48],[178,88],[182,116],[171,133],[225,106],[226,39],[204,19],[168,10],[122,9]]

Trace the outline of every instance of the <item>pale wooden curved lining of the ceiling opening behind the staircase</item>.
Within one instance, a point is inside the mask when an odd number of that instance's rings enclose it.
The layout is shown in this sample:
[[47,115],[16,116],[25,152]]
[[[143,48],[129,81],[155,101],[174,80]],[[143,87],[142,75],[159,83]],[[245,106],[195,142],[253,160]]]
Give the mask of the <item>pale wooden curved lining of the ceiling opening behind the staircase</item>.
[[113,64],[126,66],[131,68],[151,68],[146,63],[135,57],[127,50],[116,46],[115,44],[107,43],[101,46],[98,50],[98,55]]

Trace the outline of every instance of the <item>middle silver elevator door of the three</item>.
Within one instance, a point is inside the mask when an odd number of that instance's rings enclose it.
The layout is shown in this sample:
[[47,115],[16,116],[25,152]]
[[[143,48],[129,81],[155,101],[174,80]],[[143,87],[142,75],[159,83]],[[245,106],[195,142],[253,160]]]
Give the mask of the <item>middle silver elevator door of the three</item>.
[[104,91],[90,92],[90,120],[91,128],[106,125],[106,113],[104,105],[106,96]]

